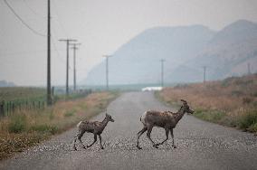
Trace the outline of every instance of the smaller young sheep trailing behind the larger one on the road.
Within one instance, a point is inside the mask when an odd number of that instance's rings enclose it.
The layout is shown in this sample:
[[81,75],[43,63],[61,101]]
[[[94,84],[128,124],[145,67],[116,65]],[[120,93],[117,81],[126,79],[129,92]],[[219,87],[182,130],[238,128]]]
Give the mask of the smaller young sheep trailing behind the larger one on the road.
[[[114,119],[111,118],[111,116],[109,114],[106,113],[106,117],[100,122],[100,121],[81,121],[77,127],[79,128],[79,133],[78,135],[75,136],[75,139],[73,141],[73,148],[74,150],[77,150],[75,143],[76,140],[79,139],[79,141],[81,142],[81,137],[84,135],[85,132],[89,132],[94,134],[94,141],[93,143],[91,143],[89,146],[90,147],[92,145],[94,145],[94,143],[97,141],[97,136],[100,139],[100,148],[103,149],[103,146],[101,145],[101,137],[100,134],[102,133],[103,129],[107,126],[108,122],[114,122]],[[81,145],[83,146],[83,148],[86,148],[83,143],[81,142]]]

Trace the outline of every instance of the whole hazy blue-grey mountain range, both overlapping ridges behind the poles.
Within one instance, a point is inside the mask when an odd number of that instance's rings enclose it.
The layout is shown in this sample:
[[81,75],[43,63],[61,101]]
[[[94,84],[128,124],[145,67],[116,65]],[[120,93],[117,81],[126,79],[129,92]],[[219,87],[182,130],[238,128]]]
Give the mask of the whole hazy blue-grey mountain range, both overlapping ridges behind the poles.
[[[156,27],[139,33],[109,58],[110,84],[160,82],[160,59],[165,59],[165,81],[207,80],[242,75],[257,69],[257,25],[237,21],[214,32],[203,25]],[[95,66],[81,82],[105,83],[105,62]]]

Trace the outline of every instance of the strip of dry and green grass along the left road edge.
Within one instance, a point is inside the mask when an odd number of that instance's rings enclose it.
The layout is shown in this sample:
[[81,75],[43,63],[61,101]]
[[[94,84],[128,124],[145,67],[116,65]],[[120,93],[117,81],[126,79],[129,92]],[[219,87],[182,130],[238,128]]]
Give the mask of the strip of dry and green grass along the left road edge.
[[43,110],[22,109],[1,118],[0,160],[99,114],[118,96],[118,92],[96,92],[86,98],[57,101]]

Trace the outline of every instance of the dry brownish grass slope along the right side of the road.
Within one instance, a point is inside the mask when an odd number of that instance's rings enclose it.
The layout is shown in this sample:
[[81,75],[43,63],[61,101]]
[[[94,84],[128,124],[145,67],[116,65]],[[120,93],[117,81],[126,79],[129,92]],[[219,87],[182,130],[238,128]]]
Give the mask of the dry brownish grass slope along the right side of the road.
[[158,92],[157,98],[173,105],[186,99],[197,118],[257,132],[257,74],[177,85]]

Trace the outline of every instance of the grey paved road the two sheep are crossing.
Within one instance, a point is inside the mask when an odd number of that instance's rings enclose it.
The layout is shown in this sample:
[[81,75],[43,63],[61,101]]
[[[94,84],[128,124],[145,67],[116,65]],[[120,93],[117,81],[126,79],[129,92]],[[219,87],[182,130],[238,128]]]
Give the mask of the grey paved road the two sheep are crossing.
[[[87,150],[73,151],[73,128],[40,146],[0,162],[0,169],[257,169],[257,137],[230,127],[185,116],[175,128],[176,146],[171,140],[153,148],[146,135],[141,137],[142,150],[136,147],[136,134],[142,125],[139,116],[147,109],[167,110],[152,93],[129,92],[109,105],[109,122],[99,143]],[[104,114],[97,118],[102,119]],[[91,134],[82,137],[84,144],[92,141]],[[165,138],[162,128],[154,128],[152,138]]]

